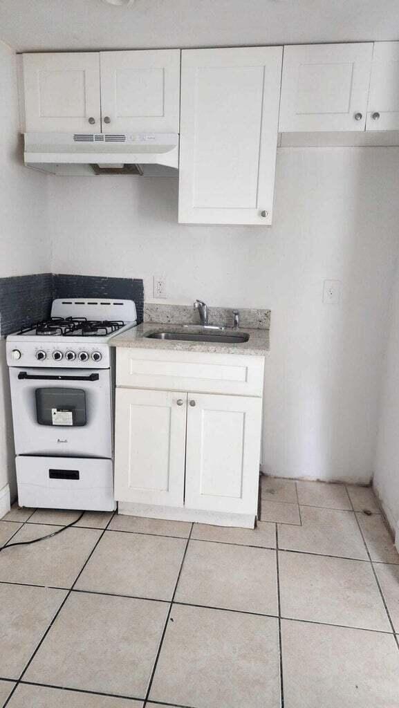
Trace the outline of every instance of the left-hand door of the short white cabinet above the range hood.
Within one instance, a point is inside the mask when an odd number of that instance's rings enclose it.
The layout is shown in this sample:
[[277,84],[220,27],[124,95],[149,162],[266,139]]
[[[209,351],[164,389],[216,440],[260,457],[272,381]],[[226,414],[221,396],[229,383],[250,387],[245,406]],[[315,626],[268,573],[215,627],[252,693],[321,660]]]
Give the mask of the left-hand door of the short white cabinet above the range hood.
[[26,132],[101,130],[96,52],[23,55],[23,90]]

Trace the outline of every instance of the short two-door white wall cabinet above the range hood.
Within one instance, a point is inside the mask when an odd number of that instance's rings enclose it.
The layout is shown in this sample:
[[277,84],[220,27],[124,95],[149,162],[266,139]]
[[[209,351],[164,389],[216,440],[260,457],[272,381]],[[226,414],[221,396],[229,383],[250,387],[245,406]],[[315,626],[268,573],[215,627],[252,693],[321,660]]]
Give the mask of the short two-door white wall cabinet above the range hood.
[[179,132],[180,50],[25,54],[24,132]]

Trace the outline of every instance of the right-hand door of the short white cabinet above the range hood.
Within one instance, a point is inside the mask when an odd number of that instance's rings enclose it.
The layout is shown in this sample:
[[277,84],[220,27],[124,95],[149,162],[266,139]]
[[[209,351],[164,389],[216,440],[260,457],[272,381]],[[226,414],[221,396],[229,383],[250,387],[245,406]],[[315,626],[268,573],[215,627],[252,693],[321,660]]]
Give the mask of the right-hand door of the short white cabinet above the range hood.
[[103,132],[179,132],[180,50],[101,52]]

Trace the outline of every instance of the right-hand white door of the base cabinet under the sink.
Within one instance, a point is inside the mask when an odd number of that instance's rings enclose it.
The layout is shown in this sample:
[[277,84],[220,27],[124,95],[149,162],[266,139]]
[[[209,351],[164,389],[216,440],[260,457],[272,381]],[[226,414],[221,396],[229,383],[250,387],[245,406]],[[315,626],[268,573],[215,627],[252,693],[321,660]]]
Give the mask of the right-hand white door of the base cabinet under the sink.
[[186,506],[257,513],[261,422],[260,398],[189,394]]

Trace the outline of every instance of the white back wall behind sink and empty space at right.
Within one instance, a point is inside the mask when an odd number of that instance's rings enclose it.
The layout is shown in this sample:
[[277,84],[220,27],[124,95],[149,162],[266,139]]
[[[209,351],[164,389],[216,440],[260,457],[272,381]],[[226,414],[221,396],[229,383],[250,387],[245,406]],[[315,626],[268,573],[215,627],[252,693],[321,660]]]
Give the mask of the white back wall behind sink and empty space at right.
[[[179,225],[175,180],[50,178],[52,270],[144,278],[171,302],[270,307],[263,461],[368,482],[398,251],[399,149],[281,149],[274,226]],[[322,304],[325,278],[342,304]]]

